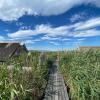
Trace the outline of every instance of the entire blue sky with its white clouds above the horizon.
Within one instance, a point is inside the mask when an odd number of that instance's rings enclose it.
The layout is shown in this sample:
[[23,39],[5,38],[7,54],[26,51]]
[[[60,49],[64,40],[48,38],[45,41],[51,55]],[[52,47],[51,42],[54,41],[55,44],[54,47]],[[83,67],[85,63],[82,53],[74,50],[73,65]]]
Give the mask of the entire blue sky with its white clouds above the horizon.
[[100,0],[0,0],[0,42],[34,50],[100,46]]

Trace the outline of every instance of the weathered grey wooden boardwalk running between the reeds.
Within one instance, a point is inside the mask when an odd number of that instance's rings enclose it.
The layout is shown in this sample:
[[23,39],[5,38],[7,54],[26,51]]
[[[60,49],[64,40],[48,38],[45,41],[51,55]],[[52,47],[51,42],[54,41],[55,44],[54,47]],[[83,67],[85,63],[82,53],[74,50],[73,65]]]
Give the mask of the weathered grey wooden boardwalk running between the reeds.
[[56,61],[50,71],[44,100],[69,100],[63,77],[57,67],[58,62]]

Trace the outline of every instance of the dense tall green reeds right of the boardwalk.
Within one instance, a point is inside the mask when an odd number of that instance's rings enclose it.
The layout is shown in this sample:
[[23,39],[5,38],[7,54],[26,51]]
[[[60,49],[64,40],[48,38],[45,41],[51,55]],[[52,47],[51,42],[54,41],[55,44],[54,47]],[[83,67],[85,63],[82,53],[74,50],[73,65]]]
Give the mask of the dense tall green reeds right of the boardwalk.
[[63,52],[60,70],[71,100],[100,100],[100,50]]

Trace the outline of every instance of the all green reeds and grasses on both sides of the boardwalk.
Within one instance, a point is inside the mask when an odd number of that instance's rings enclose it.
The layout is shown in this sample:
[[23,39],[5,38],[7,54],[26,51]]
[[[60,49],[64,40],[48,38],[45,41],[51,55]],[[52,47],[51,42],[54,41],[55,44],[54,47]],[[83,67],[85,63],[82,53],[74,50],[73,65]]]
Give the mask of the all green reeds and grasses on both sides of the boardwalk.
[[[39,100],[47,85],[49,69],[57,52],[13,57],[0,66],[1,100]],[[71,100],[100,100],[100,50],[59,52],[60,66]],[[8,68],[8,65],[13,67]]]

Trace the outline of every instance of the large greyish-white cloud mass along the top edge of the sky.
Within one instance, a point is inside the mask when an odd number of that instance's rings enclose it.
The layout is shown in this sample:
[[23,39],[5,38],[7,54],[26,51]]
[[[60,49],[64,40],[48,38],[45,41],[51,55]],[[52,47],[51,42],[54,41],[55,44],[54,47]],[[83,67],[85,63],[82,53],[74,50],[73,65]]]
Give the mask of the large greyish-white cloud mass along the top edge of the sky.
[[100,7],[99,0],[0,0],[0,19],[17,20],[28,15],[59,15],[80,4],[91,3]]

